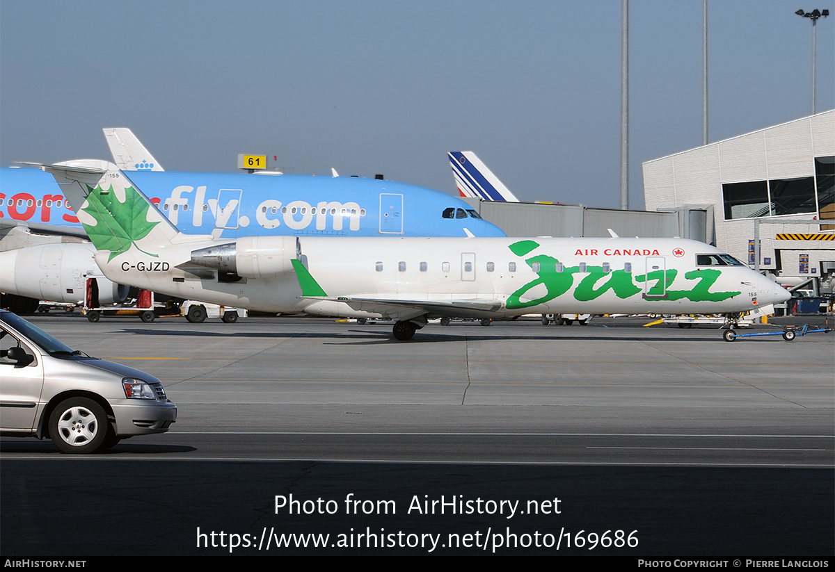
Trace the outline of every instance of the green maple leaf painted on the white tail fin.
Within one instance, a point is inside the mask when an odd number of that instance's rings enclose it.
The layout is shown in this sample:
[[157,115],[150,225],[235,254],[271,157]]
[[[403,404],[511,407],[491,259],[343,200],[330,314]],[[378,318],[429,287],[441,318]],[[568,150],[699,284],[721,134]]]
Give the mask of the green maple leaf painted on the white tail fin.
[[[81,210],[95,218],[96,224],[82,225],[97,250],[110,251],[108,262],[119,254],[128,252],[131,244],[135,245],[137,241],[148,236],[151,229],[159,224],[148,222],[148,203],[133,187],[124,189],[124,203],[120,203],[116,198],[112,186],[107,191],[100,186],[88,186],[88,189],[87,203]],[[157,254],[146,253],[138,246],[136,248],[140,252],[159,258]]]

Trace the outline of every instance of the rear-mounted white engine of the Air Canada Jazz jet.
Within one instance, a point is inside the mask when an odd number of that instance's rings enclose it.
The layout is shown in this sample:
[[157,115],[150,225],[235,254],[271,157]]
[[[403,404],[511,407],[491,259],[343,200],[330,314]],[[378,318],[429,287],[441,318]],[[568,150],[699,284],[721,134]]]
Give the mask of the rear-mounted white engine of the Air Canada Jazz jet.
[[292,261],[300,256],[301,246],[296,237],[247,236],[234,243],[194,250],[191,262],[243,278],[269,278],[293,272]]

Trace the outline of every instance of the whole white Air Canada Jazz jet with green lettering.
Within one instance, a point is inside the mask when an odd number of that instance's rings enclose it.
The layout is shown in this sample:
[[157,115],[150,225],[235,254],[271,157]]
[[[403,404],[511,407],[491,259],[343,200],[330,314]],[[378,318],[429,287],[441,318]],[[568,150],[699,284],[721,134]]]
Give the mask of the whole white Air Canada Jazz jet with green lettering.
[[115,168],[44,167],[108,278],[267,312],[434,317],[736,313],[788,299],[718,248],[676,238],[240,237],[180,231]]

